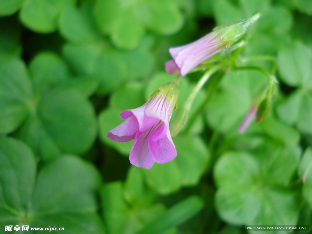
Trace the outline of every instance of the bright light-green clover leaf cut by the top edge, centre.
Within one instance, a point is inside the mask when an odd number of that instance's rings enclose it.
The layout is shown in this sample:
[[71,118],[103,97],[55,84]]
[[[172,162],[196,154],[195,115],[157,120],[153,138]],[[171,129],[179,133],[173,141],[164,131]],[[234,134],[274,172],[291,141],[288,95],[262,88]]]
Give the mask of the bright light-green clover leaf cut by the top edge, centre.
[[110,35],[111,41],[123,49],[139,45],[145,28],[163,35],[181,29],[183,17],[173,0],[137,1],[122,4],[114,0],[97,0],[94,18],[101,33]]

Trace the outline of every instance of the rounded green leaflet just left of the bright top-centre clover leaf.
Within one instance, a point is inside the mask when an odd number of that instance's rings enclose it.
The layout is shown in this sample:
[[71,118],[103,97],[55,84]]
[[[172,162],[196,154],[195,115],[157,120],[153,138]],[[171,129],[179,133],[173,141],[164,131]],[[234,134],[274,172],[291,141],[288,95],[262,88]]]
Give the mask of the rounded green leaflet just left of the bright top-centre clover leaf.
[[72,6],[61,13],[59,27],[61,35],[72,43],[92,42],[98,37],[91,19]]

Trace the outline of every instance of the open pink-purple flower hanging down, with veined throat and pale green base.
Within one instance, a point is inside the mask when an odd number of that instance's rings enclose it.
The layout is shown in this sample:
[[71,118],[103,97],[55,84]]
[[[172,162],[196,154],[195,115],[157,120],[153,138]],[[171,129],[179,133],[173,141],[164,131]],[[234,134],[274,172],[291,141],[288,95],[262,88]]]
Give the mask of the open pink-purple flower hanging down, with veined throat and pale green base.
[[149,169],[155,161],[166,163],[177,156],[169,121],[178,93],[175,83],[161,86],[144,105],[123,111],[120,116],[126,120],[108,132],[107,136],[113,141],[134,139],[129,156],[134,166]]

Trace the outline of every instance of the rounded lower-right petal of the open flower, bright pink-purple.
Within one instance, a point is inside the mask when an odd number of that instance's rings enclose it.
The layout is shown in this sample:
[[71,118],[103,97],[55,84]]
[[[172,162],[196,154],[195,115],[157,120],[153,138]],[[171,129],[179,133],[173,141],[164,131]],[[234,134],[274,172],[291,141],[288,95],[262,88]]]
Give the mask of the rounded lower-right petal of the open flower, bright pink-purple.
[[162,139],[153,141],[153,137],[149,137],[149,151],[157,163],[167,163],[177,156],[169,130]]

